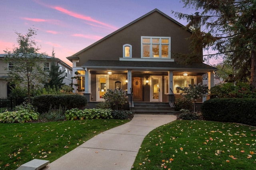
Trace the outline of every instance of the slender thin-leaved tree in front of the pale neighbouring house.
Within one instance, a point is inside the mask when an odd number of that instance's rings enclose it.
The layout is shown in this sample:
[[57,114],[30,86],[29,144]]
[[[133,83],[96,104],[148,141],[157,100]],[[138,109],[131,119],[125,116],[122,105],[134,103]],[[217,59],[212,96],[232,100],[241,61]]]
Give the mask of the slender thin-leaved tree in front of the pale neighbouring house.
[[46,54],[38,53],[40,50],[36,46],[36,42],[32,40],[36,31],[28,29],[26,35],[17,33],[17,42],[19,47],[14,47],[12,51],[4,51],[6,53],[4,61],[12,63],[13,68],[5,68],[16,85],[22,84],[26,87],[28,102],[32,91],[47,80],[47,73],[43,69],[43,64],[46,62]]

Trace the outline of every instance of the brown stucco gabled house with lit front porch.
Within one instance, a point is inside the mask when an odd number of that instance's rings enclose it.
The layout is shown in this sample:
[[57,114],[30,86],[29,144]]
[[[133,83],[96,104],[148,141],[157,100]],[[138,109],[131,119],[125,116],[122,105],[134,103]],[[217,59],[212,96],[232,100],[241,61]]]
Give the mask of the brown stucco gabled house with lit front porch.
[[[133,102],[173,102],[180,96],[177,88],[202,82],[209,74],[209,88],[214,86],[216,68],[197,61],[182,65],[173,53],[191,53],[191,31],[158,9],[128,23],[96,43],[67,57],[74,72],[81,76],[80,86],[90,102],[100,102],[107,89],[127,91]],[[198,62],[199,61],[199,62]],[[89,103],[90,104],[90,103]]]

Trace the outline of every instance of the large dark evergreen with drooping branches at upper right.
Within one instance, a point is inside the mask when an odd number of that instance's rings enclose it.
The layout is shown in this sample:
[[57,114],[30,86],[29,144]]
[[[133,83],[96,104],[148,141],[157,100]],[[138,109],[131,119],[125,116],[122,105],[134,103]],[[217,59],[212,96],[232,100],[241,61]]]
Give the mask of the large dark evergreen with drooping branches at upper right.
[[[181,0],[185,8],[202,10],[200,16],[174,12],[186,19],[192,29],[191,48],[210,51],[207,58],[223,57],[232,61],[236,77],[247,76],[256,88],[256,1],[255,0]],[[239,76],[238,76],[239,75]]]

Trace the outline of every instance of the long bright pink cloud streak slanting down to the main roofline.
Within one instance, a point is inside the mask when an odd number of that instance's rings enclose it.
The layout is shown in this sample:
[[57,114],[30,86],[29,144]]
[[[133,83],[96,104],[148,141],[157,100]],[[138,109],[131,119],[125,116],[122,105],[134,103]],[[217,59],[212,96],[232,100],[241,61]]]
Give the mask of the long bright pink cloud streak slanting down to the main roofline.
[[92,18],[89,17],[89,16],[84,16],[84,15],[81,15],[81,14],[77,14],[77,13],[75,13],[75,12],[66,10],[66,9],[61,8],[61,7],[58,7],[58,6],[55,6],[55,7],[52,7],[52,8],[55,9],[55,10],[58,10],[58,11],[60,11],[60,12],[63,12],[64,14],[67,14],[67,15],[69,15],[69,16],[75,17],[75,18],[79,18],[79,19],[82,19],[82,20],[86,20],[86,21],[91,21],[91,22],[94,22],[94,23],[98,23],[98,24],[100,24],[100,25],[104,25],[104,26],[110,27],[110,28],[112,28],[112,29],[118,29],[118,28],[116,28],[116,27],[114,27],[114,26],[112,26],[112,25],[109,25],[109,24],[107,24],[107,23],[103,23],[103,22],[94,20],[94,19],[92,19]]

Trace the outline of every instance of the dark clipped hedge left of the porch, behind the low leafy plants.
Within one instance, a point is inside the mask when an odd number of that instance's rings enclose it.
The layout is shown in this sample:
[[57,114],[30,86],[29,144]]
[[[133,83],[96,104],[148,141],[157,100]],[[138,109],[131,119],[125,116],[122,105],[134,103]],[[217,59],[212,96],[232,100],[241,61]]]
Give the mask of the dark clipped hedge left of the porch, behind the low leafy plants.
[[88,104],[85,96],[77,94],[64,94],[64,95],[38,95],[32,100],[32,105],[37,107],[39,113],[45,113],[49,110],[49,107],[65,107],[67,109],[79,108]]

